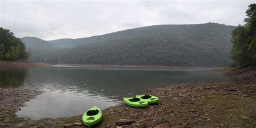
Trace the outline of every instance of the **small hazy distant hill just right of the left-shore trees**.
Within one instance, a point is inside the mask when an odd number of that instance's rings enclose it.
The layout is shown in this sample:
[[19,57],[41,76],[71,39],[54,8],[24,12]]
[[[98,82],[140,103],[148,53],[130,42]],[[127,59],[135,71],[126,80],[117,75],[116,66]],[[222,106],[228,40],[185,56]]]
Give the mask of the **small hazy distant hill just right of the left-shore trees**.
[[55,47],[49,42],[36,37],[23,37],[21,38],[21,41],[26,45],[26,48],[31,48],[31,49],[44,49],[44,48],[49,49],[49,48]]

